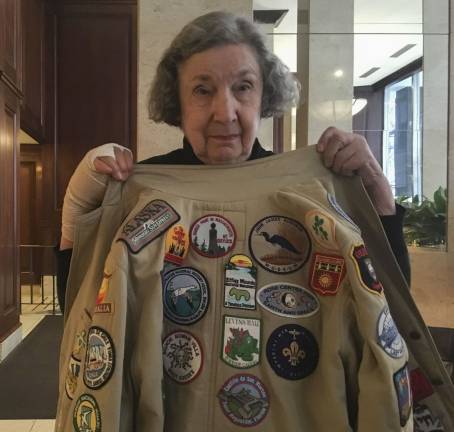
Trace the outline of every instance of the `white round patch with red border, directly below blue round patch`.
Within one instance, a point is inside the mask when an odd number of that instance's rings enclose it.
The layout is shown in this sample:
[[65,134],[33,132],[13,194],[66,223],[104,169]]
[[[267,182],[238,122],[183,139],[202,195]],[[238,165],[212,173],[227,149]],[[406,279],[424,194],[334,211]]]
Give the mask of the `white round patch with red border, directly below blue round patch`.
[[176,331],[167,335],[162,342],[162,358],[167,375],[180,384],[191,382],[202,370],[202,347],[189,332]]

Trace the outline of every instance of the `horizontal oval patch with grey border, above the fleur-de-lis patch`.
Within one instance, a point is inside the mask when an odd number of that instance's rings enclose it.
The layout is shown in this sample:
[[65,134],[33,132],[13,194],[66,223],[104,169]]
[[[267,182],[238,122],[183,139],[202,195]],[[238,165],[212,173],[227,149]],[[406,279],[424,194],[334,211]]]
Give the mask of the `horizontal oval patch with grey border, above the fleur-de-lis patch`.
[[303,318],[316,314],[320,308],[317,297],[302,286],[278,282],[265,285],[257,292],[260,306],[287,318]]

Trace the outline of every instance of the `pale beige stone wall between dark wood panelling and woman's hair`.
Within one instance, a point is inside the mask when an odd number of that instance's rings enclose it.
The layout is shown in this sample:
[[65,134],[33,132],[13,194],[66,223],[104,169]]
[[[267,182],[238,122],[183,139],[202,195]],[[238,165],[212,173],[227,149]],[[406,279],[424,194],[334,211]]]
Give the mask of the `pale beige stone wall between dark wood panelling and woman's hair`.
[[147,95],[163,51],[191,19],[215,10],[252,15],[252,0],[139,0],[139,64],[137,95],[137,159],[167,153],[181,146],[178,128],[151,122]]

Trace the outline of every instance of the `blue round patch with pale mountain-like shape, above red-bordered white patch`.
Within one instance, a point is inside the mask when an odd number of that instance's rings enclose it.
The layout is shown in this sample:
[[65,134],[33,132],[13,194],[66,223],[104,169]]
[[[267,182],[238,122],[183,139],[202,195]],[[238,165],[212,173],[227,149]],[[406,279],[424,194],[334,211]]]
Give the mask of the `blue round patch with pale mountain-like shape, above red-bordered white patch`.
[[177,324],[193,324],[208,309],[208,282],[192,267],[170,270],[163,276],[165,316]]

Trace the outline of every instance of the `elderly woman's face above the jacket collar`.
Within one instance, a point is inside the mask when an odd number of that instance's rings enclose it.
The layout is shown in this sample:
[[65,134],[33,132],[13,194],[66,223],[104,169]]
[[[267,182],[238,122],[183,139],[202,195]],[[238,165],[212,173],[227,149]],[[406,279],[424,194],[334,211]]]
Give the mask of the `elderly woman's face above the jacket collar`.
[[179,68],[181,127],[205,164],[245,161],[260,123],[262,75],[244,44],[210,48]]

